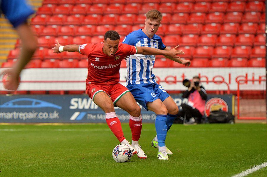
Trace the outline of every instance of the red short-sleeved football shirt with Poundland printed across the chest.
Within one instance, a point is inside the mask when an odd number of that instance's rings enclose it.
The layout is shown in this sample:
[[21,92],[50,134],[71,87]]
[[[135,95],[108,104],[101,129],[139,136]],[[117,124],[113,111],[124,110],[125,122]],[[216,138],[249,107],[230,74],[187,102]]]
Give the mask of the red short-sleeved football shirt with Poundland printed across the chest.
[[104,43],[80,45],[81,54],[88,56],[88,75],[86,85],[90,83],[113,84],[120,81],[120,62],[127,55],[137,53],[135,46],[119,43],[114,56],[103,52]]

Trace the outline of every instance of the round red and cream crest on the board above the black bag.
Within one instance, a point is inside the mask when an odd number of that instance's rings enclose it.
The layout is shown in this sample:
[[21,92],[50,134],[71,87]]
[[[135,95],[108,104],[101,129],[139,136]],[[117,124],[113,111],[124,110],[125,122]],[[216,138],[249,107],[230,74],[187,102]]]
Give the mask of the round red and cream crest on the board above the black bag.
[[223,110],[228,112],[227,103],[221,98],[211,98],[205,104],[205,115],[208,117],[209,113],[215,110]]

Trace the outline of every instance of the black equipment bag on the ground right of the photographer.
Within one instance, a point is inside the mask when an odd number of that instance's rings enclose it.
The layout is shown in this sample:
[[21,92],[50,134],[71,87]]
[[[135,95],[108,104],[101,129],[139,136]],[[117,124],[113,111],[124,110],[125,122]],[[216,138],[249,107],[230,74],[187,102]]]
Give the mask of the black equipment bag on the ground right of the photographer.
[[210,112],[208,119],[209,123],[235,123],[235,116],[222,110]]

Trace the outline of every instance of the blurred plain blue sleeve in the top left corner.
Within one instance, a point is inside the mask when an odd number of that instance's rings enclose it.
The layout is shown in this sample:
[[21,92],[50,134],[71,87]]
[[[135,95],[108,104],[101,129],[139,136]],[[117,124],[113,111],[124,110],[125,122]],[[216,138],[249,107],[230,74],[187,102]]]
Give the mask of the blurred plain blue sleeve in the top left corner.
[[14,28],[26,22],[28,17],[34,13],[25,0],[2,0],[1,10]]

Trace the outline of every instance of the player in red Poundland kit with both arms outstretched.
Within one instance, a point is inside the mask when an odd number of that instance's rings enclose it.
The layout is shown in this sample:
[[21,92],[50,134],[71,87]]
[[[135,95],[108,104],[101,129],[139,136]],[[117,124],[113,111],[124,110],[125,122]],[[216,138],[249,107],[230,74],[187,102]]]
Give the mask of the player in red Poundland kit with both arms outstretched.
[[[59,43],[52,48],[55,53],[63,51],[79,52],[88,56],[88,76],[86,79],[86,91],[93,102],[106,114],[106,121],[122,144],[128,145],[133,154],[141,159],[147,158],[139,146],[141,135],[142,117],[141,109],[137,105],[131,92],[120,81],[120,62],[129,55],[165,55],[179,58],[178,54],[184,54],[181,50],[159,50],[148,47],[135,47],[119,43],[120,36],[116,31],[107,31],[104,42],[98,44],[65,45]],[[132,145],[124,138],[119,119],[116,116],[114,106],[118,106],[130,114],[130,128],[132,132]]]

